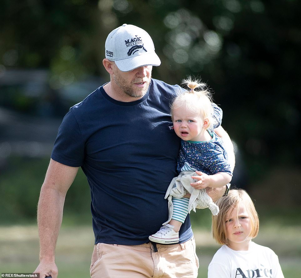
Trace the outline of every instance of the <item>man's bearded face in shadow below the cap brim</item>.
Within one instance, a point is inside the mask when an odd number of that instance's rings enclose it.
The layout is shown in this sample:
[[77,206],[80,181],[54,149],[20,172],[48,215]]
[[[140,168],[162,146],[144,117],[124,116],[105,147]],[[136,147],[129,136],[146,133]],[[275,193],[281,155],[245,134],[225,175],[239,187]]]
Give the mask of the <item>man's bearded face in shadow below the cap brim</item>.
[[135,68],[129,72],[122,72],[114,64],[113,81],[127,96],[142,98],[150,86],[152,66]]

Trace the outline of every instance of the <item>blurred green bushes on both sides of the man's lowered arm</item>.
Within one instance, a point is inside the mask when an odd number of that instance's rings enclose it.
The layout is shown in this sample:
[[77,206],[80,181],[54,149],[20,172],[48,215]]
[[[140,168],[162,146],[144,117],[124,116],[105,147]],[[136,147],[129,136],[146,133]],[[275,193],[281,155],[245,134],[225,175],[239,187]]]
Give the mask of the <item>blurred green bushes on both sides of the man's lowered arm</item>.
[[[36,208],[49,159],[10,157],[0,173],[0,222],[28,224],[36,220]],[[64,223],[91,223],[90,190],[79,169],[68,190],[64,205]],[[79,222],[80,220],[80,222]]]

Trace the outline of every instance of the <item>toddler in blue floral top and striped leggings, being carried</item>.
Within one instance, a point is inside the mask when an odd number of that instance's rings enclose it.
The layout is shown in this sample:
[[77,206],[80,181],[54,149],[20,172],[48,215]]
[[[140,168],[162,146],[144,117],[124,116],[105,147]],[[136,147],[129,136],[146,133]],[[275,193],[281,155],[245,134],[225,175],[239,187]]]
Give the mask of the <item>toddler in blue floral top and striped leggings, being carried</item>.
[[[206,187],[222,187],[232,179],[232,167],[222,139],[214,130],[221,124],[215,118],[214,107],[207,85],[198,80],[184,80],[189,90],[179,92],[171,105],[171,119],[181,148],[175,177],[166,192],[169,219],[149,239],[161,244],[179,241],[179,230],[191,210],[209,208],[212,214],[218,207],[206,193]],[[197,90],[201,88],[200,90]],[[193,186],[192,186],[193,184]]]

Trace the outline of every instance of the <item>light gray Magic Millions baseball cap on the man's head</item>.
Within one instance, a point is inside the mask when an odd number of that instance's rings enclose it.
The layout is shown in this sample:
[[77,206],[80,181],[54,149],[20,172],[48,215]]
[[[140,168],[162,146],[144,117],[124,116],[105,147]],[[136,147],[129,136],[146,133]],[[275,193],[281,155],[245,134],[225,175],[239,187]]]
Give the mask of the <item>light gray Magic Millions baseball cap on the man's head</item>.
[[130,24],[123,24],[108,35],[105,41],[105,58],[114,61],[124,72],[161,64],[150,35]]

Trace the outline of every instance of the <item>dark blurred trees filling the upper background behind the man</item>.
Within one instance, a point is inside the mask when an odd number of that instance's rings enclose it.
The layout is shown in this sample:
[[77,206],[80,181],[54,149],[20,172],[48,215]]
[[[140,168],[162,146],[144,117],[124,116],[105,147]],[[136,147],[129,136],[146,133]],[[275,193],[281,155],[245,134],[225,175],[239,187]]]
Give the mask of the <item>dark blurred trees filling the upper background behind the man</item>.
[[[222,125],[254,181],[275,165],[299,164],[300,7],[297,0],[3,0],[0,77],[47,69],[51,90],[91,75],[108,80],[107,34],[122,23],[140,26],[161,58],[154,78],[174,84],[194,75],[216,92]],[[22,110],[26,100],[18,101]]]

